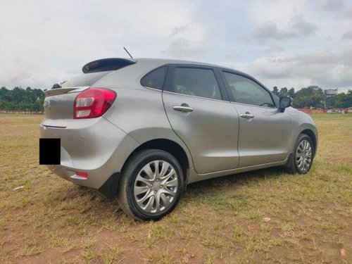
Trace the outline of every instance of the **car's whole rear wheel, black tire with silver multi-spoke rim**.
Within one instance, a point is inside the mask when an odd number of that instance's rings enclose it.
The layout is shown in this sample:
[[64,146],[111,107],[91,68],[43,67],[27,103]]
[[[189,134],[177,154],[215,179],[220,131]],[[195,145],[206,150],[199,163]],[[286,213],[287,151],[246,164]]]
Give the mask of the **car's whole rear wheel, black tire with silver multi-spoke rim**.
[[122,172],[118,201],[140,220],[158,220],[177,205],[184,189],[182,168],[170,153],[148,149],[136,153]]

